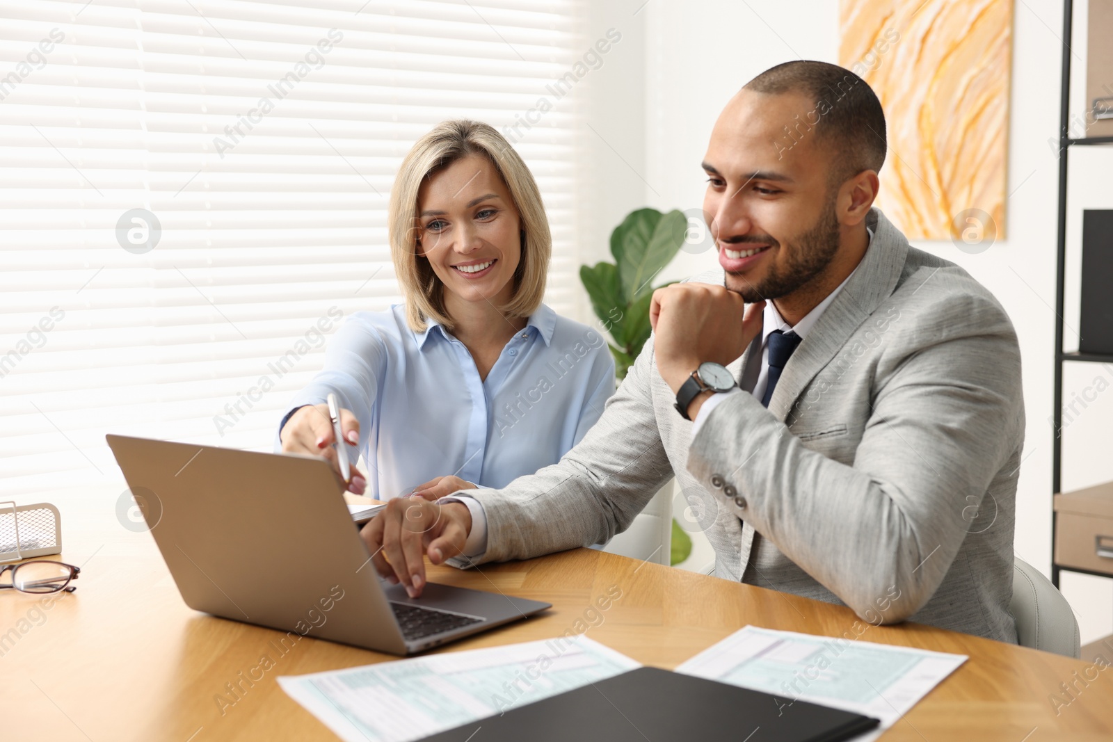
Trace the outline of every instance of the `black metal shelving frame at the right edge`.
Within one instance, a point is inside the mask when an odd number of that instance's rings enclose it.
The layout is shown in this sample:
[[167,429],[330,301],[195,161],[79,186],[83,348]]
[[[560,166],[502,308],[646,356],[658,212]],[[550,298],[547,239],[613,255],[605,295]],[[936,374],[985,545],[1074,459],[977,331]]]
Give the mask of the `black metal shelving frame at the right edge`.
[[[1090,147],[1101,145],[1113,145],[1113,137],[1086,137],[1072,139],[1070,137],[1071,126],[1071,46],[1074,31],[1074,3],[1072,0],[1063,2],[1063,77],[1062,98],[1060,101],[1060,149],[1058,149],[1058,254],[1056,266],[1055,284],[1055,409],[1054,431],[1052,441],[1052,494],[1062,492],[1062,465],[1063,465],[1063,365],[1067,363],[1102,363],[1113,364],[1113,355],[1094,353],[1064,353],[1063,352],[1063,310],[1064,291],[1066,284],[1066,168],[1070,160],[1070,152],[1075,147]],[[1057,563],[1056,538],[1057,538],[1058,515],[1052,511],[1052,583],[1058,587],[1060,572],[1077,572],[1100,577],[1113,577],[1104,572],[1083,570],[1077,566],[1061,565]]]

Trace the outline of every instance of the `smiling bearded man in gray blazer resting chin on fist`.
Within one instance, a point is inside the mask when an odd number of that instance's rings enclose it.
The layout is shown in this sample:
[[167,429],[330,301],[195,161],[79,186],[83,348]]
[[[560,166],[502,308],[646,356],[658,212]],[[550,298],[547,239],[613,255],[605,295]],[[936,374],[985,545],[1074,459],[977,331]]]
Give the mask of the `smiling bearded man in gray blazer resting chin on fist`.
[[654,294],[653,336],[560,463],[392,501],[363,531],[380,574],[418,594],[426,551],[604,543],[676,476],[720,577],[1015,643],[1016,335],[871,208],[885,154],[854,73],[798,61],[747,83],[703,162],[721,269]]

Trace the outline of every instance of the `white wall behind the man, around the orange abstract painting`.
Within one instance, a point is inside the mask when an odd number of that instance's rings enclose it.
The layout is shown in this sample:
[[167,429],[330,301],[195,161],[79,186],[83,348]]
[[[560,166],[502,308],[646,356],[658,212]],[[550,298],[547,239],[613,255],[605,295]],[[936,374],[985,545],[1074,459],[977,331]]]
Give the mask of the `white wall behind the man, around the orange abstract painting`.
[[[622,159],[600,142],[592,229],[585,231],[584,261],[604,259],[610,228],[640,205],[662,210],[698,207],[703,174],[699,164],[715,118],[730,96],[758,72],[797,58],[837,62],[838,3],[831,0],[703,0],[680,3],[611,0],[610,24],[623,29],[623,52],[643,52],[639,70],[626,58],[608,60],[595,78],[589,122],[604,133]],[[1084,3],[1083,3],[1084,4]],[[594,22],[595,19],[593,18]],[[949,241],[915,245],[958,263],[992,290],[1007,309],[1020,336],[1027,410],[1025,459],[1016,502],[1016,553],[1050,573],[1052,388],[1054,373],[1055,219],[1057,160],[1048,146],[1057,136],[1062,3],[1015,3],[1012,103],[1008,130],[1007,239],[967,255]],[[1084,34],[1083,34],[1084,36]],[[1085,58],[1084,38],[1072,44]],[[611,62],[615,63],[612,65]],[[1080,70],[1081,72],[1081,70]],[[643,150],[638,151],[638,144]],[[1072,208],[1113,207],[1101,171],[1113,166],[1113,150],[1072,155]],[[1086,160],[1086,157],[1090,157]],[[1085,167],[1083,167],[1085,166]],[[632,175],[632,171],[637,175]],[[883,169],[881,180],[885,179]],[[1072,216],[1081,225],[1081,212]],[[1073,228],[1073,227],[1072,227]],[[1076,236],[1072,244],[1076,246]],[[682,278],[713,265],[715,255],[681,254],[662,274]],[[1074,266],[1077,266],[1075,260]],[[1076,268],[1075,268],[1076,270]],[[1076,326],[1077,309],[1066,313]],[[1070,343],[1070,340],[1068,340]],[[1068,369],[1065,397],[1099,373],[1090,365]],[[1113,478],[1111,439],[1113,395],[1086,409],[1065,433],[1066,489]],[[1101,407],[1107,409],[1102,410]],[[1064,573],[1063,591],[1078,616],[1083,642],[1113,632],[1113,581]]]

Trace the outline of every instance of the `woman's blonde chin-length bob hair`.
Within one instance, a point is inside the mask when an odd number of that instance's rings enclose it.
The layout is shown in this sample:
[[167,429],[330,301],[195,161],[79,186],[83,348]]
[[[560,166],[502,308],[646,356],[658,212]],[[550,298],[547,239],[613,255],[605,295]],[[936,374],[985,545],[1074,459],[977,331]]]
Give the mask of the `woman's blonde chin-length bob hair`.
[[427,319],[435,319],[446,329],[453,327],[444,308],[444,284],[417,249],[417,194],[426,178],[469,155],[482,155],[491,161],[510,190],[521,220],[522,257],[514,271],[514,293],[499,309],[511,317],[529,317],[544,296],[552,237],[533,175],[493,127],[467,119],[442,121],[402,160],[387,216],[394,271],[406,297],[406,321],[417,333],[426,328]]

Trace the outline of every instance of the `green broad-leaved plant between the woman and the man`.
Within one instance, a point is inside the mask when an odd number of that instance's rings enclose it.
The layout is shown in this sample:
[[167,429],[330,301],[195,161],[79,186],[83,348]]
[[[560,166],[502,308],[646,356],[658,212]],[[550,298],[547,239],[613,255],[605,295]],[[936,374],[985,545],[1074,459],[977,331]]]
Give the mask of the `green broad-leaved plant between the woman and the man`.
[[[591,306],[611,336],[609,345],[620,380],[649,339],[649,303],[653,291],[667,285],[653,286],[653,279],[683,246],[687,230],[688,218],[681,211],[631,211],[611,233],[614,263],[580,267]],[[691,548],[691,538],[673,520],[670,564],[683,562]]]

